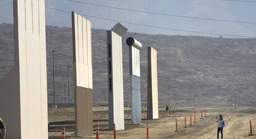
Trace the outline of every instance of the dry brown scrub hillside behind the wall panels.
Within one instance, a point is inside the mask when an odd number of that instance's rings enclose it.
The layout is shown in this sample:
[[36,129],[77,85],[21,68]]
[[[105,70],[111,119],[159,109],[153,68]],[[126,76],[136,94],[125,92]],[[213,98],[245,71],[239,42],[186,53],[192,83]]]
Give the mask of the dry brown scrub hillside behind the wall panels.
[[[93,100],[108,101],[106,30],[92,31]],[[237,94],[238,105],[256,106],[256,39],[224,39],[202,36],[167,36],[126,33],[123,37],[124,97],[129,92],[129,54],[125,44],[132,36],[142,42],[142,102],[147,101],[147,47],[158,50],[158,94],[160,105],[173,98],[176,106],[191,106],[193,94],[198,106],[230,106]],[[72,66],[72,31],[46,26],[48,101],[53,101],[53,63],[55,57],[56,102],[64,102],[67,65]],[[13,28],[0,25],[0,79],[14,66]],[[67,89],[66,89],[67,90]],[[1,92],[1,90],[0,90]],[[1,92],[3,93],[3,92]],[[72,68],[70,93],[74,100]]]

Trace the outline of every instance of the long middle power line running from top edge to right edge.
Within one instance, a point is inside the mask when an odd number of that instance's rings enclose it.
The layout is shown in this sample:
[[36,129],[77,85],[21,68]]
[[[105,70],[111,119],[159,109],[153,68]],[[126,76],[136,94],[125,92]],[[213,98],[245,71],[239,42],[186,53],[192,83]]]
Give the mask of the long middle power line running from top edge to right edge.
[[[244,21],[234,21],[234,20],[222,20],[222,19],[214,19],[214,18],[203,18],[203,17],[189,17],[185,15],[173,15],[173,14],[164,14],[164,13],[159,13],[159,12],[150,12],[150,11],[145,11],[145,10],[134,10],[134,9],[126,9],[126,8],[121,8],[121,7],[114,7],[114,6],[105,6],[101,4],[93,4],[89,2],[82,2],[82,1],[75,1],[75,0],[65,0],[69,2],[76,2],[80,4],[87,4],[91,6],[100,6],[100,7],[106,7],[106,8],[111,8],[111,9],[119,9],[119,10],[129,10],[133,12],[141,12],[145,14],[155,14],[155,15],[165,15],[165,16],[170,16],[170,17],[181,17],[181,18],[192,18],[192,19],[199,19],[199,20],[211,20],[211,21],[216,21],[216,22],[233,22],[233,23],[248,23],[248,24],[256,24],[256,22],[244,22]],[[223,0],[225,1],[225,0]],[[228,0],[226,0],[228,1]],[[255,1],[256,2],[256,1]]]

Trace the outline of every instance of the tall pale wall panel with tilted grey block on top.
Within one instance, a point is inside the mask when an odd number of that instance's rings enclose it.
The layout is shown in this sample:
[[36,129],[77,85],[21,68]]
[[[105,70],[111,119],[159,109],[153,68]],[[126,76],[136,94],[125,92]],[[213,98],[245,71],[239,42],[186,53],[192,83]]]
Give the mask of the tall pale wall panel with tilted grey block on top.
[[117,23],[107,31],[109,130],[124,130],[124,89],[122,77],[122,35],[127,29]]

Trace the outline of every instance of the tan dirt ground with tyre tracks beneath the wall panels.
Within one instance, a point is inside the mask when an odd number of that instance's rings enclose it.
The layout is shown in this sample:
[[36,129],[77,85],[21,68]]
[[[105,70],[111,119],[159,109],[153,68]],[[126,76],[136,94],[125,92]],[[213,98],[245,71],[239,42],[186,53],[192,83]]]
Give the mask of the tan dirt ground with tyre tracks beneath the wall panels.
[[[223,115],[226,127],[224,127],[224,138],[241,139],[256,138],[256,108],[207,108],[207,117],[200,119],[200,109],[176,108],[171,109],[169,116],[164,116],[164,109],[160,109],[160,118],[147,120],[147,111],[142,112],[142,124],[130,124],[130,109],[125,108],[125,129],[118,130],[117,138],[146,138],[146,124],[148,122],[149,138],[216,138],[217,124],[215,117]],[[74,108],[49,108],[49,122],[53,122],[49,128],[49,138],[60,138],[62,126],[66,127],[66,138],[82,139],[75,137]],[[192,125],[190,124],[192,114]],[[194,114],[196,122],[194,122]],[[184,127],[184,116],[187,118],[187,128]],[[178,121],[178,131],[175,121]],[[252,120],[253,133],[249,136],[249,121]],[[100,138],[113,138],[113,131],[108,130],[108,107],[93,107],[93,123],[100,124]],[[92,136],[83,138],[95,138],[96,131]]]

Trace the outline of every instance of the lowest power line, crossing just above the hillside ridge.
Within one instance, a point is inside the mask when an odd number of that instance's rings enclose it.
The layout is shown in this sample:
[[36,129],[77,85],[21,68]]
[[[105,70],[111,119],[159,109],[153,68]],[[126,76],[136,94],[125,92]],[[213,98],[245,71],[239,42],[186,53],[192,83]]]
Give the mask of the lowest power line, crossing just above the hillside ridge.
[[[66,13],[71,13],[71,11],[67,11],[67,10],[61,10],[61,9],[56,9],[53,7],[47,7],[48,9],[52,9],[52,10],[58,10],[61,12],[66,12]],[[238,38],[256,38],[256,36],[242,36],[242,35],[233,35],[233,34],[221,34],[221,33],[209,33],[209,32],[203,32],[203,31],[191,31],[191,30],[180,30],[180,29],[176,29],[176,28],[166,28],[166,27],[161,27],[161,26],[153,26],[153,25],[144,25],[144,24],[140,24],[140,23],[132,23],[132,22],[126,22],[126,21],[121,21],[121,20],[114,20],[114,19],[109,19],[109,18],[103,18],[103,17],[96,17],[93,15],[87,15],[87,14],[80,14],[83,16],[87,16],[87,17],[92,17],[92,18],[99,18],[102,20],[109,20],[112,22],[121,22],[121,23],[127,23],[130,25],[138,25],[138,26],[146,26],[146,27],[150,27],[150,28],[159,28],[159,29],[164,29],[164,30],[174,30],[174,31],[182,31],[182,32],[187,32],[187,33],[201,33],[201,34],[211,34],[211,35],[218,35],[218,36],[231,36],[231,37],[238,37]]]

